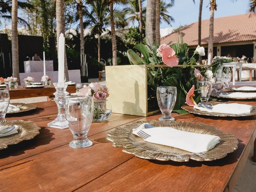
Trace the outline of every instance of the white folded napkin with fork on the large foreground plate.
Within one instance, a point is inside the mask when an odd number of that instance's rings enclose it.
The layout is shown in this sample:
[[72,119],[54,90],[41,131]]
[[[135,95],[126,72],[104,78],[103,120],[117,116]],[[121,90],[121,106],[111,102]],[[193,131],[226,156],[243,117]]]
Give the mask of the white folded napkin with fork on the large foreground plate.
[[132,133],[139,136],[139,130],[143,130],[150,137],[144,139],[146,142],[170,146],[186,150],[193,153],[206,152],[219,143],[220,137],[208,134],[198,134],[193,132],[176,130],[171,127],[154,127],[145,129],[141,124],[133,129]]

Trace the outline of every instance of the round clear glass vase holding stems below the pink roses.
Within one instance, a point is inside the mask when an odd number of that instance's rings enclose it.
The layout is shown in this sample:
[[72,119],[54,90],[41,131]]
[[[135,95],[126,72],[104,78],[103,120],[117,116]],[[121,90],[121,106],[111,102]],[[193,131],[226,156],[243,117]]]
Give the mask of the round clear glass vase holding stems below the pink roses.
[[108,120],[112,114],[112,107],[106,99],[94,100],[94,110],[92,122],[102,122]]

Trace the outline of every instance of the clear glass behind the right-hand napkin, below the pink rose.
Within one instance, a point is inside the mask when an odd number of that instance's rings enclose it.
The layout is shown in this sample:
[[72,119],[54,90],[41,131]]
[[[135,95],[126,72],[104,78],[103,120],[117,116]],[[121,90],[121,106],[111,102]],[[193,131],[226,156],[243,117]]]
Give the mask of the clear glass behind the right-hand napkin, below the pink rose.
[[196,83],[197,92],[200,94],[201,102],[207,102],[212,93],[212,82],[211,81],[198,81]]

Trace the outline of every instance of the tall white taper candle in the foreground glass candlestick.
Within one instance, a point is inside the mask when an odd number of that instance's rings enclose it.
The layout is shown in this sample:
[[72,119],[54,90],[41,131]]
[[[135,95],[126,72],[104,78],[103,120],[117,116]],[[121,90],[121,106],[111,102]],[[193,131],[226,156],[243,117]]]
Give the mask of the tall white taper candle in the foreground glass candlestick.
[[65,51],[65,38],[63,33],[59,37],[59,53],[58,53],[58,83],[64,82],[64,51]]

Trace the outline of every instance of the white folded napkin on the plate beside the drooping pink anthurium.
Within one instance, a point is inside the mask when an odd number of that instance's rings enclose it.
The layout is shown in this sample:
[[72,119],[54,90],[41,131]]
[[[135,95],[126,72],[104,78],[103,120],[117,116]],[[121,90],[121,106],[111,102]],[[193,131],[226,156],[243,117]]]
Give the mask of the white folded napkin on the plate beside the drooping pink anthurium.
[[222,114],[243,114],[250,113],[252,110],[251,105],[238,104],[238,103],[222,103],[212,106],[212,110],[204,107],[198,107],[194,105],[194,108],[200,111],[206,111],[210,113],[222,113]]

